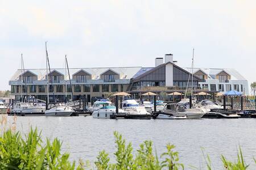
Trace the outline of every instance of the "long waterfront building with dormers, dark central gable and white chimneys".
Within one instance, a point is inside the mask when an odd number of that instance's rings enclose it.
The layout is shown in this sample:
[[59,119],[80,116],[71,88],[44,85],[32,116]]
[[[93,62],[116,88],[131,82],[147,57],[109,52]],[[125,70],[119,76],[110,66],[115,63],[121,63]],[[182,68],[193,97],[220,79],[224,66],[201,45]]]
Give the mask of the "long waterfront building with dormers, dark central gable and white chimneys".
[[[75,100],[85,95],[89,101],[120,91],[130,92],[134,97],[147,91],[184,92],[187,86],[191,87],[191,71],[176,63],[172,54],[166,54],[164,58],[155,58],[155,67],[72,68],[70,79],[65,69],[51,69],[48,76],[46,69],[16,70],[9,85],[16,100],[21,95],[46,100],[47,90],[50,99],[54,92],[55,99],[60,101],[66,95],[71,99],[72,92]],[[195,92],[238,90],[249,94],[247,80],[233,69],[195,69],[193,88]]]

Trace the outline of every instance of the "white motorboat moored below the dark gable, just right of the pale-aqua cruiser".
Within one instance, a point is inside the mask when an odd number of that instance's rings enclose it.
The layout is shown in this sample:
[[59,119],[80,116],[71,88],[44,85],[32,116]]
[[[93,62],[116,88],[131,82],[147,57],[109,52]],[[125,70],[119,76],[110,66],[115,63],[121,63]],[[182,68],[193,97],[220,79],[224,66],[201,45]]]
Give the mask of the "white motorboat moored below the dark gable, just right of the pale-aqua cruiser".
[[139,115],[145,115],[150,116],[151,113],[148,113],[146,109],[139,105],[139,103],[136,100],[124,100],[122,102],[122,109],[123,111],[127,112],[127,114],[139,114]]

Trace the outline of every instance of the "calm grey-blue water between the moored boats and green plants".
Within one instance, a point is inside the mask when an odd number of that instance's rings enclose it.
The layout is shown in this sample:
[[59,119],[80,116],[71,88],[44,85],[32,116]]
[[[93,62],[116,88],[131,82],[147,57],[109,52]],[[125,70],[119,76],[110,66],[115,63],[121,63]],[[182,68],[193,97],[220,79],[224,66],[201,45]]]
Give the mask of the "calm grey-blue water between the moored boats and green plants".
[[253,118],[105,120],[90,116],[18,117],[19,130],[26,133],[31,125],[42,130],[43,137],[61,139],[64,151],[69,151],[71,159],[75,160],[81,158],[93,162],[100,150],[106,150],[113,156],[115,130],[132,142],[134,149],[147,139],[154,142],[158,154],[165,150],[168,142],[174,144],[185,169],[189,169],[189,165],[205,169],[201,147],[210,155],[214,169],[222,169],[221,154],[236,160],[239,145],[242,146],[246,163],[254,164],[253,157],[256,157],[256,119]]

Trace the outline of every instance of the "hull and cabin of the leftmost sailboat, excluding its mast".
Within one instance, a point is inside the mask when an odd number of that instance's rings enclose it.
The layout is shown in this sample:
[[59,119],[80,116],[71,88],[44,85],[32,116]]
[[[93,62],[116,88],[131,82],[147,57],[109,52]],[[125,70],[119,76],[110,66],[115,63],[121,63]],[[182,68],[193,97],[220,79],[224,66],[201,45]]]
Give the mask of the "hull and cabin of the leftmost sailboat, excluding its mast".
[[24,114],[32,114],[32,113],[44,113],[46,111],[46,107],[43,105],[39,105],[37,103],[16,103],[12,109],[12,113],[24,113]]

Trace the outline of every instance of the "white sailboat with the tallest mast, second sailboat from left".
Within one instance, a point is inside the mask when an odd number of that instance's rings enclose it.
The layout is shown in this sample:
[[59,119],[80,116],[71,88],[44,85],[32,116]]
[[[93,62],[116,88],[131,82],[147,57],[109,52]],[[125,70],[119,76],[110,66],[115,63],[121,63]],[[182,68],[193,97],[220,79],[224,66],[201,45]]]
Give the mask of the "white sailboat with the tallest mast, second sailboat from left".
[[[68,67],[68,63],[67,63],[67,56],[65,56],[65,64]],[[49,66],[49,58],[48,58],[48,52],[47,52],[47,42],[46,42],[46,65],[47,67]],[[69,70],[68,70],[69,73]],[[51,68],[49,66],[49,74],[51,76],[51,85],[53,87],[52,84],[52,74],[51,74]],[[48,83],[48,72],[47,72],[47,87],[49,86]],[[69,76],[70,79],[70,76]],[[53,88],[52,88],[53,89]],[[49,88],[47,88],[47,99],[49,99],[49,92],[48,92]],[[73,109],[71,107],[67,107],[67,105],[65,103],[57,103],[55,101],[55,95],[54,95],[54,90],[52,90],[52,94],[53,94],[53,103],[47,103],[47,108],[46,108],[46,112],[45,115],[46,116],[71,116],[71,114],[75,111],[73,111]],[[73,96],[73,95],[72,95]],[[48,100],[49,101],[49,100]]]

